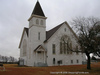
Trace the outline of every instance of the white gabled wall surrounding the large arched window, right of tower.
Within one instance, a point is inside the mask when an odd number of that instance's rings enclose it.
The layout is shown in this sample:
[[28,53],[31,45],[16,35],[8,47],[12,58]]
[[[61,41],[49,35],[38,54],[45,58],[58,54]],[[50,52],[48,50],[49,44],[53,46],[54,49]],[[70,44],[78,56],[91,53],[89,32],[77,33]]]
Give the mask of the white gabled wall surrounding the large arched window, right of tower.
[[[66,32],[64,31],[64,28],[66,28]],[[66,24],[64,24],[47,42],[47,63],[48,66],[53,66],[53,58],[56,59],[56,64],[58,60],[62,60],[62,65],[73,65],[73,64],[82,64],[82,54],[79,53],[77,55],[76,53],[72,54],[60,54],[60,48],[59,48],[59,40],[62,35],[67,35],[70,37],[72,41],[72,47],[75,48],[77,45],[76,38],[74,37],[73,33],[70,31],[70,29],[67,27]],[[56,44],[56,54],[52,54],[52,44]],[[76,60],[79,60],[79,63],[76,62]],[[73,64],[71,64],[71,60],[73,60]]]

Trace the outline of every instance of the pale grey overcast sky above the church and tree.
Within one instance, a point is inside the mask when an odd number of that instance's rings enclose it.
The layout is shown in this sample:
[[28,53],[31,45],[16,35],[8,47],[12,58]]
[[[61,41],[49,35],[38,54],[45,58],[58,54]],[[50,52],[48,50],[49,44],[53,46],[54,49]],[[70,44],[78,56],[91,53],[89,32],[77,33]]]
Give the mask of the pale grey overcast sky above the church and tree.
[[[18,58],[20,38],[37,0],[0,0],[0,55]],[[46,30],[75,17],[100,17],[100,0],[39,0]]]

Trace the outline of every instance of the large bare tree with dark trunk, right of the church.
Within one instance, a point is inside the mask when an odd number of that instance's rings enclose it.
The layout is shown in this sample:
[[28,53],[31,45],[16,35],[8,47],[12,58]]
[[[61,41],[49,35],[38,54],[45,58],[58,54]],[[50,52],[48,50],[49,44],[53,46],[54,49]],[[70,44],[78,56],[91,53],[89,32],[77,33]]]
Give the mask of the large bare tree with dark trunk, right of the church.
[[78,35],[78,43],[81,50],[78,50],[78,52],[86,54],[87,69],[91,69],[90,54],[93,53],[100,56],[100,19],[78,17],[73,19],[72,25]]

